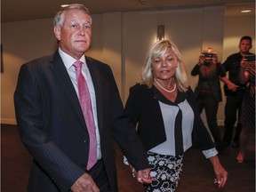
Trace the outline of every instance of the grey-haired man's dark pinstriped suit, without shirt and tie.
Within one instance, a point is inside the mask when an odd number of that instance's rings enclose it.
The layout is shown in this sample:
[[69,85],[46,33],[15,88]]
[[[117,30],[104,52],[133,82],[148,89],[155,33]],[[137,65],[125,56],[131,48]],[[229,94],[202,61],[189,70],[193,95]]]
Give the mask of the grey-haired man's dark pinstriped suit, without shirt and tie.
[[[86,58],[94,84],[100,148],[111,191],[117,191],[115,139],[136,170],[148,167],[147,154],[124,108],[111,69]],[[20,68],[14,92],[20,138],[33,156],[28,191],[69,191],[84,174],[89,135],[76,90],[59,52]]]

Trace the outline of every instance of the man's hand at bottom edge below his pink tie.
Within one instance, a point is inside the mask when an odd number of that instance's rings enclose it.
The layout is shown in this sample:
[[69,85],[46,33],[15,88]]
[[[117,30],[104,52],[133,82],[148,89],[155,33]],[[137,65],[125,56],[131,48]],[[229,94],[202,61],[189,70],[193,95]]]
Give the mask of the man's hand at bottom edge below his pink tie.
[[84,173],[71,187],[72,192],[100,192],[92,177]]

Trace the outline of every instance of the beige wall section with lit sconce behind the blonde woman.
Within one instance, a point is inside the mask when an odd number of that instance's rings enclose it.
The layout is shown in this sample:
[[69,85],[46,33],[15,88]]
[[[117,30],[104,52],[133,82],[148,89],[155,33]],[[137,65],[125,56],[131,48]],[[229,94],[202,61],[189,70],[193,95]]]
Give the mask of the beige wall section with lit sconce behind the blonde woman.
[[[197,78],[190,76],[202,49],[212,46],[222,52],[225,8],[211,7],[198,9],[170,10],[169,12],[127,12],[124,14],[124,64],[125,92],[140,81],[140,69],[148,49],[156,42],[157,25],[165,26],[165,39],[176,44],[186,62],[186,71],[192,88]],[[212,20],[215,20],[212,22]],[[209,25],[205,23],[211,22]]]

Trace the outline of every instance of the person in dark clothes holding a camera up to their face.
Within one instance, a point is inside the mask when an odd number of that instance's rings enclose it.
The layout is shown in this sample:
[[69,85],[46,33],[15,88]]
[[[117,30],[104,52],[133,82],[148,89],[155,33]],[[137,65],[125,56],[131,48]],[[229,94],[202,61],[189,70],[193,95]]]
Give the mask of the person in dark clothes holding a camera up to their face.
[[222,100],[220,77],[226,76],[226,72],[218,61],[217,53],[213,52],[212,48],[209,47],[199,56],[199,61],[192,69],[191,75],[199,76],[195,90],[197,108],[200,114],[203,109],[205,110],[207,124],[216,148],[221,153],[217,112],[219,102]]

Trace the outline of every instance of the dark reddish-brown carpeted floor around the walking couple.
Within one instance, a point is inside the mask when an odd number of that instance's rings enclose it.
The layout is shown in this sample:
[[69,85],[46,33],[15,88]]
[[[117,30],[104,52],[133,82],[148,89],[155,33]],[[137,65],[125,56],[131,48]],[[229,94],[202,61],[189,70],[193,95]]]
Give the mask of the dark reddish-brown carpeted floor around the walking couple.
[[[225,188],[213,184],[212,164],[199,148],[190,148],[184,157],[183,172],[177,192],[254,192],[255,191],[255,137],[252,135],[244,164],[236,163],[238,149],[226,148],[220,162],[228,171]],[[143,187],[132,178],[123,164],[123,155],[116,145],[116,167],[119,192],[142,192]],[[31,157],[20,142],[15,125],[1,124],[1,191],[25,192]],[[47,191],[45,191],[47,192]]]

